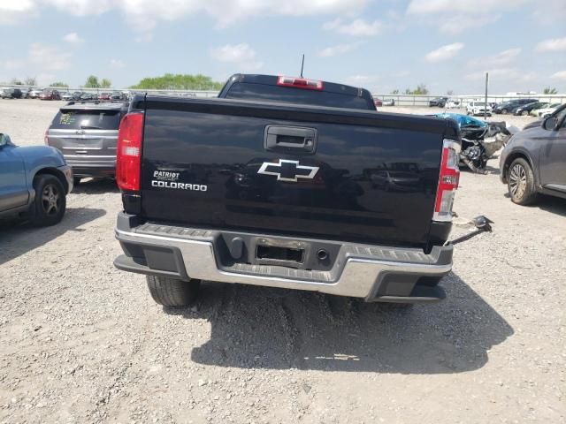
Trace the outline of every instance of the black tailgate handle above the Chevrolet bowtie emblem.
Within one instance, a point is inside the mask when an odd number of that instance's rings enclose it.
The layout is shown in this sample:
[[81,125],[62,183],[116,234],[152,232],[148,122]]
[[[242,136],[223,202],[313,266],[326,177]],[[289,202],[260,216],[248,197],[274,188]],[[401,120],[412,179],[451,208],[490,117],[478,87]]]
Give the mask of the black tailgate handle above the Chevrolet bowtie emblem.
[[315,128],[267,125],[264,148],[272,151],[314,153],[317,149],[317,138],[318,133]]

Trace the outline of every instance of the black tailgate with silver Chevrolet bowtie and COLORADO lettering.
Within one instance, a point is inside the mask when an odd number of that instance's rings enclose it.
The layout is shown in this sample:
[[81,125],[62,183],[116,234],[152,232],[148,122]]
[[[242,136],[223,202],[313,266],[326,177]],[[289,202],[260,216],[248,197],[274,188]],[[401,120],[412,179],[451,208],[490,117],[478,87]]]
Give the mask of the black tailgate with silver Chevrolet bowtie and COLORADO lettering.
[[203,228],[424,246],[445,120],[149,97],[142,216]]

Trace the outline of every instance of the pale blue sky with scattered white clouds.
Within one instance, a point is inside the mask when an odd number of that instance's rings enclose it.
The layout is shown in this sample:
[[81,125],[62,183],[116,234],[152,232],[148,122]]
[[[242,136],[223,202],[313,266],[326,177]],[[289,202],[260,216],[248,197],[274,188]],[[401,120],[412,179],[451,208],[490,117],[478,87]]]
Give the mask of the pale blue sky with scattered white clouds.
[[0,0],[0,82],[236,72],[438,95],[566,92],[566,0]]

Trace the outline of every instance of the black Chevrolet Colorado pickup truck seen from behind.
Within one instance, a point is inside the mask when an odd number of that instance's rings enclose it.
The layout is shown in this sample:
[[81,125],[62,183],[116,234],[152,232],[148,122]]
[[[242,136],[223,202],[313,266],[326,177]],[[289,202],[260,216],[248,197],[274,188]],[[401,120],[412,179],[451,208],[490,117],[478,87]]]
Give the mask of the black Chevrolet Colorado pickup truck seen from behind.
[[[443,299],[460,133],[367,90],[234,75],[218,99],[139,95],[119,129],[115,266],[164,306],[201,280]],[[447,245],[447,246],[445,246]]]

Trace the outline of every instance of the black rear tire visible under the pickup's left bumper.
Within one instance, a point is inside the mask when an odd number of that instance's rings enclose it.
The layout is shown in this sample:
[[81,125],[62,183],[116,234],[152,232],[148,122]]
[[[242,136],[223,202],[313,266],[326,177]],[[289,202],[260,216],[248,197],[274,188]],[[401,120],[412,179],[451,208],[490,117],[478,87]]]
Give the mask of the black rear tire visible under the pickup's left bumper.
[[198,296],[201,280],[182,281],[164,276],[147,276],[151,297],[164,307],[187,307]]

